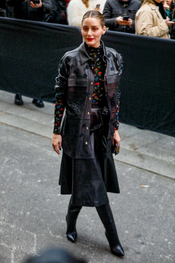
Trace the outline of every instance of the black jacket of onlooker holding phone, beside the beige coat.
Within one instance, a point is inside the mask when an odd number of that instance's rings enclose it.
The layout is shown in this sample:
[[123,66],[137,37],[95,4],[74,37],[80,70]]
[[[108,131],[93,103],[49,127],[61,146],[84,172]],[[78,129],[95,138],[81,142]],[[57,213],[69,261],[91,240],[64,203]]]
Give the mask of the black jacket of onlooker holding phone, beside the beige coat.
[[[105,26],[109,30],[135,34],[135,14],[142,3],[138,0],[107,0],[103,9]],[[116,17],[126,16],[132,19],[132,26],[116,24]]]

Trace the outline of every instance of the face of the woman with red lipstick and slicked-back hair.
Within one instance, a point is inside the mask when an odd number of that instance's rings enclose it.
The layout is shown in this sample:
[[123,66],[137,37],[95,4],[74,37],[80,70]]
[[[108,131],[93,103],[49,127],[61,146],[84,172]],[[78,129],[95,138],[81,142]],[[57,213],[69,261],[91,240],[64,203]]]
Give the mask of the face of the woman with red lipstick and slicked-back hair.
[[81,33],[88,46],[99,47],[100,38],[106,31],[106,27],[101,27],[100,21],[94,17],[88,17],[83,20]]

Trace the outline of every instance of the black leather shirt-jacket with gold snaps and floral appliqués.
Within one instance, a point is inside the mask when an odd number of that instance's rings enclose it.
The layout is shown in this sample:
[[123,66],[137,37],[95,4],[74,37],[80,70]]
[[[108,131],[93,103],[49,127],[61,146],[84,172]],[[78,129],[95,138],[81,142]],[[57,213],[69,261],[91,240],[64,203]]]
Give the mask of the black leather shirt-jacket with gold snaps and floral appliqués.
[[[103,51],[106,66],[104,87],[110,112],[109,123],[104,125],[109,125],[107,154],[111,154],[123,65],[122,56],[116,50],[103,44]],[[68,156],[74,158],[91,159],[94,154],[89,145],[94,67],[94,60],[88,56],[84,42],[77,49],[67,52],[59,64],[55,85],[56,99],[62,99],[66,107],[61,130],[62,148]]]

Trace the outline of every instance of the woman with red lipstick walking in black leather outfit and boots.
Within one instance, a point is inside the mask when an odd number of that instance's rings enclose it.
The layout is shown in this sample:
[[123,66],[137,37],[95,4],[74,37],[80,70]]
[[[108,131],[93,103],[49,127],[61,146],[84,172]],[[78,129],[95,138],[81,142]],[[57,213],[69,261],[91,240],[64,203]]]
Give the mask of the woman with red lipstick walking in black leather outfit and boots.
[[122,56],[100,40],[105,31],[104,16],[88,11],[81,26],[84,42],[60,61],[52,146],[58,154],[63,148],[61,193],[72,194],[66,216],[68,240],[76,240],[81,207],[95,206],[111,252],[124,256],[107,196],[107,192],[119,193],[112,147],[120,141],[119,79],[123,66]]

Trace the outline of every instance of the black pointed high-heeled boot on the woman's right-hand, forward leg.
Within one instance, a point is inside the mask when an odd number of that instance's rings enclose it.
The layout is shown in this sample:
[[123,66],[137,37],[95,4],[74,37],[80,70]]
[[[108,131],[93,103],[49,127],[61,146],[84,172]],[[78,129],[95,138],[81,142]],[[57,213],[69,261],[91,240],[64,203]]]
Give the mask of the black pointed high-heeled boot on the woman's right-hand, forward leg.
[[105,234],[109,242],[111,252],[116,256],[124,256],[124,251],[117,235],[117,230],[109,203],[107,205],[97,206],[96,209],[106,229]]

